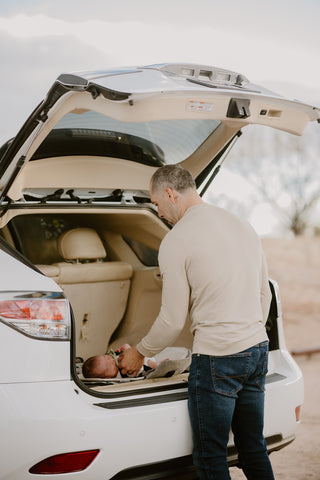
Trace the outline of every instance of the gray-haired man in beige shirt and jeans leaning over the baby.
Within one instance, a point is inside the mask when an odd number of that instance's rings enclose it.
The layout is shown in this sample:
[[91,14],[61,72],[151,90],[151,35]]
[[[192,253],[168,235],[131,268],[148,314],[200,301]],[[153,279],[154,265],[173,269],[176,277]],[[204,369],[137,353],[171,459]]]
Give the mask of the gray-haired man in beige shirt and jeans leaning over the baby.
[[272,480],[263,437],[271,293],[259,237],[246,222],[204,203],[179,165],[154,173],[150,196],[174,226],[159,250],[162,303],[149,333],[120,356],[121,371],[136,375],[144,356],[176,340],[189,313],[188,406],[199,478],[230,480],[232,428],[246,477]]

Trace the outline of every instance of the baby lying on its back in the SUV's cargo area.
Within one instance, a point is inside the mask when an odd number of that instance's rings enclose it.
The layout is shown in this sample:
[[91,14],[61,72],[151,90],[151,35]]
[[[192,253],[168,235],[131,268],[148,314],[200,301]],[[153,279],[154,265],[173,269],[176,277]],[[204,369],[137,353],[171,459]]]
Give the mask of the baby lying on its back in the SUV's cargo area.
[[[82,373],[85,378],[121,378],[122,374],[118,366],[118,356],[124,350],[131,348],[125,343],[117,350],[109,350],[105,355],[95,355],[88,358],[82,367]],[[154,358],[145,358],[144,366],[147,369],[154,369],[161,362],[156,362]],[[144,368],[141,369],[138,376],[142,376]]]

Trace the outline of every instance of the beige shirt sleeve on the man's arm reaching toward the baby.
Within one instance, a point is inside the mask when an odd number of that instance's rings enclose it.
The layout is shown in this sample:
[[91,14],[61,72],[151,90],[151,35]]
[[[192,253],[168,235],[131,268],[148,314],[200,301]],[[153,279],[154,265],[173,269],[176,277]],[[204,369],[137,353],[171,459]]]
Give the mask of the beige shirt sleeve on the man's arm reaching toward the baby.
[[183,243],[170,234],[161,243],[159,267],[162,276],[161,308],[151,329],[137,345],[138,351],[144,356],[155,355],[172,345],[188,315],[190,289],[186,274],[186,252]]

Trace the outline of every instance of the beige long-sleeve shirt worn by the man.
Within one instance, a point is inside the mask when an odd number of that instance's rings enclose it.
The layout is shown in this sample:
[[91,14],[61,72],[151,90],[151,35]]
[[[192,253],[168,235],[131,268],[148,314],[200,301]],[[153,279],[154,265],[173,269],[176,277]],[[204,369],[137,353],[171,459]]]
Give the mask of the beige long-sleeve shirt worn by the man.
[[137,345],[145,356],[172,345],[188,313],[193,353],[230,355],[267,340],[271,292],[261,242],[218,207],[190,207],[163,239],[160,313]]

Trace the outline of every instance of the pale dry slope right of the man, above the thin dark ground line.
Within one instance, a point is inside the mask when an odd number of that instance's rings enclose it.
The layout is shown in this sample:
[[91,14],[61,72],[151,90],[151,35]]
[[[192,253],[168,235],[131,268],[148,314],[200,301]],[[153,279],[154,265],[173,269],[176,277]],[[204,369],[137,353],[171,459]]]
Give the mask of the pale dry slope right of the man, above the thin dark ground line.
[[280,288],[288,349],[320,348],[320,237],[264,239],[263,247]]

